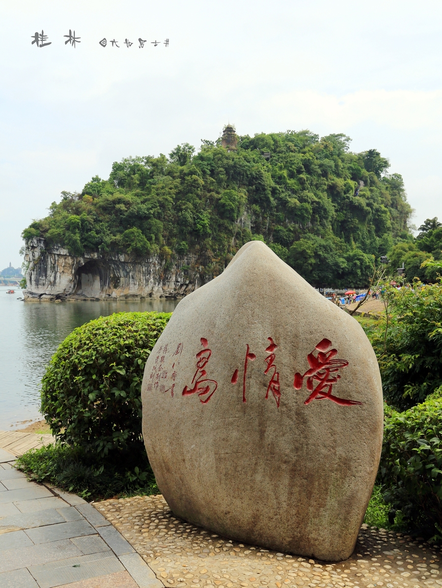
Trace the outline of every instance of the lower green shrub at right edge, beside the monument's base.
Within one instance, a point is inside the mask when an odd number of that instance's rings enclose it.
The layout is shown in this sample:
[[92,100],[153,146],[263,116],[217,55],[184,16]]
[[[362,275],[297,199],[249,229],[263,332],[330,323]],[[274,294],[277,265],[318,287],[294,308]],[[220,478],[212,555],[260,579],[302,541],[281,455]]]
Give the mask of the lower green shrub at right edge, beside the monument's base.
[[442,387],[403,413],[386,407],[378,481],[384,500],[426,536],[442,534]]

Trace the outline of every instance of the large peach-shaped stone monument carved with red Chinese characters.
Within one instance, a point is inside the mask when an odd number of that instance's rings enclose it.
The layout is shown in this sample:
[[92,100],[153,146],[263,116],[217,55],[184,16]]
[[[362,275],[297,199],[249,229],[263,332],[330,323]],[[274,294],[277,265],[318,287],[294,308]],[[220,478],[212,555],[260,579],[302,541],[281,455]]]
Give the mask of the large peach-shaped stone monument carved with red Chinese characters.
[[382,445],[355,319],[264,243],[181,300],[146,363],[143,435],[173,512],[229,539],[352,553]]

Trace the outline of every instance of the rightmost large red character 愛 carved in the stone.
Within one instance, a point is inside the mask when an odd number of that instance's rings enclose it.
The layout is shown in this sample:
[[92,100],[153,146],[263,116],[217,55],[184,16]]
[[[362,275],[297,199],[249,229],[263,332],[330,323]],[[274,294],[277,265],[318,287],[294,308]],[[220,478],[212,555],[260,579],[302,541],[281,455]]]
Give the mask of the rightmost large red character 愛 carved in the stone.
[[[295,380],[293,387],[295,390],[301,390],[304,378],[307,379],[307,390],[311,392],[311,395],[305,400],[304,404],[309,404],[312,400],[332,400],[341,406],[353,406],[360,405],[361,402],[356,400],[346,400],[344,398],[338,398],[332,394],[333,384],[336,384],[340,379],[338,371],[340,368],[346,368],[349,362],[345,359],[333,359],[338,354],[336,349],[331,349],[332,342],[329,339],[322,339],[316,345],[318,355],[315,356],[309,353],[307,360],[309,362],[310,369],[308,369],[303,376],[300,373],[295,373]],[[316,382],[318,382],[316,384]]]

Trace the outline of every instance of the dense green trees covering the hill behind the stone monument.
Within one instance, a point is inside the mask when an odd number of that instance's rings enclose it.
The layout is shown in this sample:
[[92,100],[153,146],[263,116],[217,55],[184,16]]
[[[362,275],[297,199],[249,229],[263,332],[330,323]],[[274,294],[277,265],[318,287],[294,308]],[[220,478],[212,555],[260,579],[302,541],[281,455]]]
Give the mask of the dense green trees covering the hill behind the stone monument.
[[44,237],[73,255],[194,253],[208,279],[262,239],[314,286],[362,286],[374,259],[413,241],[411,208],[401,176],[386,174],[388,160],[375,149],[352,153],[349,142],[287,131],[238,137],[232,151],[218,139],[198,153],[183,143],[168,158],[123,159],[109,179],[62,192],[23,238]]

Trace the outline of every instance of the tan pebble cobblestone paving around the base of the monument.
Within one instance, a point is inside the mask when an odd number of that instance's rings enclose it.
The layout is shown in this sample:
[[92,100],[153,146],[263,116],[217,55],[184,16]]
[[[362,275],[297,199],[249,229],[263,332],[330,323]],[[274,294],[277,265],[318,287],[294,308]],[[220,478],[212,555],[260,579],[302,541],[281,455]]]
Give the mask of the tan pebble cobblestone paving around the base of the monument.
[[327,563],[245,545],[173,515],[163,496],[93,503],[170,588],[440,588],[441,550],[363,524],[350,559]]

